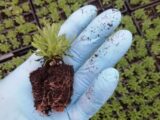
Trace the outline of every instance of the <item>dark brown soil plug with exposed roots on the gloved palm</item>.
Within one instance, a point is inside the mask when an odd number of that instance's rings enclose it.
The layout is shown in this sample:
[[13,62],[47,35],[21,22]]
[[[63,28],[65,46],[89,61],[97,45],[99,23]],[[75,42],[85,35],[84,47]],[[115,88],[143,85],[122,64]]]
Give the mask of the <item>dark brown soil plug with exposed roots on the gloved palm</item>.
[[49,114],[63,111],[73,91],[73,67],[61,60],[51,61],[30,74],[35,108]]

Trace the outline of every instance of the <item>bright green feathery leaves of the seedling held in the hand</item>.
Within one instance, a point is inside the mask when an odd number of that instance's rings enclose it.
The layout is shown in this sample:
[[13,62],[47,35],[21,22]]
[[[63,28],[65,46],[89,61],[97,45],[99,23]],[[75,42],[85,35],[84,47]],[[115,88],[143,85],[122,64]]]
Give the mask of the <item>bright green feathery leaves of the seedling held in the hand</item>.
[[66,50],[69,49],[70,43],[65,36],[58,36],[59,25],[46,24],[40,34],[36,34],[33,38],[32,45],[38,49],[38,55],[47,59],[62,58]]

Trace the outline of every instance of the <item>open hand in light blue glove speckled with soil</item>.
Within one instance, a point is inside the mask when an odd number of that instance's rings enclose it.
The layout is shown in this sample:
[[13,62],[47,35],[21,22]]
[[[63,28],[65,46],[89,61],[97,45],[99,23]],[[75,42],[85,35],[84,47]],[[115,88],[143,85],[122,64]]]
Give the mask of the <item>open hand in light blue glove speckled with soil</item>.
[[33,54],[0,81],[0,120],[88,120],[100,109],[119,79],[118,71],[110,67],[129,49],[132,35],[127,30],[112,34],[121,21],[118,10],[96,15],[92,5],[80,8],[59,32],[73,41],[71,56],[63,57],[75,70],[73,95],[65,111],[45,116],[35,110],[29,75],[42,64],[37,61],[41,57]]

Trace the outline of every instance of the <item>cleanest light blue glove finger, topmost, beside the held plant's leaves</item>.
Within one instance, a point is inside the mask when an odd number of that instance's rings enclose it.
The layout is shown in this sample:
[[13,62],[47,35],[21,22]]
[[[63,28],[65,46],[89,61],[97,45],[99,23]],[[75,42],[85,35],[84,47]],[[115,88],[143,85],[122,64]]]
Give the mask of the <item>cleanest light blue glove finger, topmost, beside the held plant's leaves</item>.
[[68,40],[73,41],[96,15],[97,8],[93,5],[78,9],[63,23],[59,35],[65,34]]

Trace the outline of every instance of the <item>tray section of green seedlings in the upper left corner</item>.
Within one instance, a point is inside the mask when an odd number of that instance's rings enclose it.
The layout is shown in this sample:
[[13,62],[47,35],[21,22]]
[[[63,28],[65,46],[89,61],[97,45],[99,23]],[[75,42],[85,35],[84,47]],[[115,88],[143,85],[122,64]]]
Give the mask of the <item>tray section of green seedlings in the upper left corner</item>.
[[37,21],[27,0],[1,1],[0,9],[0,62],[3,62],[31,48]]

